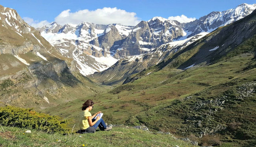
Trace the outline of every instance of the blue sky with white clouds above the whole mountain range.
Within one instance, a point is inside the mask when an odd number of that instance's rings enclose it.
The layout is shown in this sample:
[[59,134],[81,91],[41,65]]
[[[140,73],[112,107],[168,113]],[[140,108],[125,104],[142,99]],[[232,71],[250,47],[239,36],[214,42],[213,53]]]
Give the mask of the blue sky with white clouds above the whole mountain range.
[[[164,18],[185,15],[188,18],[199,18],[212,11],[224,11],[236,7],[239,4],[255,4],[255,0],[5,0],[0,2],[4,7],[16,9],[19,15],[28,21],[29,24],[38,24],[58,20],[63,24],[63,16],[70,15],[69,18],[83,16],[80,19],[88,19],[98,22],[111,22],[109,17],[100,13],[109,12],[113,19],[123,18],[123,24],[136,24],[140,20],[149,20],[152,17],[160,16]],[[111,9],[103,9],[110,7]],[[115,8],[116,9],[113,9]],[[69,11],[67,11],[69,9]],[[83,11],[87,9],[87,11]],[[96,9],[100,9],[95,11]],[[63,12],[64,11],[64,12]],[[76,13],[78,12],[79,13]],[[115,13],[112,13],[115,11]],[[61,13],[63,12],[63,13]],[[62,14],[62,15],[60,15]],[[118,15],[120,14],[120,15]],[[86,15],[86,16],[85,16]],[[87,16],[89,15],[89,16]],[[92,18],[93,16],[96,18]],[[59,16],[58,18],[56,18]],[[117,17],[117,18],[115,18]],[[104,20],[106,18],[106,20]],[[62,19],[62,20],[61,20]],[[65,18],[66,20],[68,18]],[[100,21],[102,20],[102,21]],[[109,21],[108,21],[109,20]],[[130,20],[130,22],[128,22]],[[76,20],[67,21],[77,23]],[[85,20],[86,21],[86,20]],[[43,22],[42,22],[43,24]]]

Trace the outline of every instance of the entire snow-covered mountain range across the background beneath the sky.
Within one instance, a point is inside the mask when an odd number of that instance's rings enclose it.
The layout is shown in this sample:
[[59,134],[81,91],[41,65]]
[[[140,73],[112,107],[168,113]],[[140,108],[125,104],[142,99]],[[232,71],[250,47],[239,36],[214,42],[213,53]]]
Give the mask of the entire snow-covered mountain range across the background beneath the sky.
[[61,55],[74,59],[80,73],[90,75],[109,68],[123,57],[145,54],[162,44],[211,32],[249,15],[254,9],[256,4],[241,4],[188,23],[154,17],[136,26],[90,22],[60,26],[53,22],[37,30]]

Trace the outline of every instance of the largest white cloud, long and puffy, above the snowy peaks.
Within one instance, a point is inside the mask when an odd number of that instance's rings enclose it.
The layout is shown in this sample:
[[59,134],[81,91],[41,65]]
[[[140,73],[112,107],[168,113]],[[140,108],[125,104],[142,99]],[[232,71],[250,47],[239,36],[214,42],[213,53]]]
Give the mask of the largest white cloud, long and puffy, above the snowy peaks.
[[127,12],[125,10],[117,9],[116,7],[104,7],[96,10],[80,10],[76,12],[70,12],[70,9],[62,11],[55,21],[64,25],[67,23],[78,24],[82,21],[93,22],[95,24],[113,24],[121,23],[124,25],[135,26],[140,22],[140,19],[136,17],[136,13]]

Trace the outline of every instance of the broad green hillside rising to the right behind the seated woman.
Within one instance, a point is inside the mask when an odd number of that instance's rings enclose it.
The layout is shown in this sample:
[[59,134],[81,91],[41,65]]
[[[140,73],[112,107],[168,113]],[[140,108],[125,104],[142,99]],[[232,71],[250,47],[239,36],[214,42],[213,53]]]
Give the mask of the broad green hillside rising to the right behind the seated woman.
[[[249,122],[256,121],[252,117],[255,116],[255,95],[240,102],[236,99],[233,101],[232,95],[238,95],[236,93],[238,86],[256,80],[255,40],[256,37],[248,39],[237,46],[234,51],[209,66],[185,71],[164,68],[157,72],[154,72],[154,67],[149,68],[144,71],[140,79],[132,83],[119,86],[108,93],[76,99],[65,105],[48,108],[45,112],[54,115],[61,114],[64,118],[74,118],[74,123],[77,123],[77,116],[83,101],[93,99],[96,102],[94,112],[101,110],[105,113],[104,119],[113,124],[138,125],[142,123],[152,129],[188,136],[191,133],[198,134],[203,128],[211,125],[216,127],[222,124],[228,127],[230,123],[240,120],[247,122],[245,125],[237,126],[244,131],[242,136],[251,133],[252,135],[247,137],[252,139],[256,124]],[[227,86],[230,82],[233,84]],[[228,93],[230,91],[234,93]],[[214,100],[225,94],[230,96],[231,100],[223,110],[211,115],[211,118],[218,118],[217,121],[204,119],[202,128],[195,128],[193,123],[184,123],[189,116],[203,116],[203,113],[208,113],[207,110],[211,108],[211,105],[208,105],[205,111],[203,108],[193,110],[190,107],[191,103],[202,99]],[[180,101],[190,95],[193,96],[191,100]],[[227,115],[229,117],[226,117]],[[222,132],[223,141],[244,143],[245,138],[237,138],[237,132],[225,131]],[[245,144],[250,145],[253,142],[254,140],[251,140]]]

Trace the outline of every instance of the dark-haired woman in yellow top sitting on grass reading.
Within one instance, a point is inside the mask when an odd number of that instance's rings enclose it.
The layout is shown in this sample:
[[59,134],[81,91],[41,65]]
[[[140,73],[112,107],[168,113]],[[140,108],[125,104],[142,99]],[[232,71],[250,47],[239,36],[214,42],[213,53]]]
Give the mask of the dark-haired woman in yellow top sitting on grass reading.
[[97,127],[99,127],[100,130],[111,130],[112,126],[106,126],[103,119],[99,116],[94,119],[97,114],[101,113],[100,111],[91,116],[91,113],[89,111],[91,111],[92,109],[93,101],[91,99],[88,99],[85,103],[83,103],[83,112],[81,113],[79,118],[80,130],[78,131],[78,133],[94,133]]

